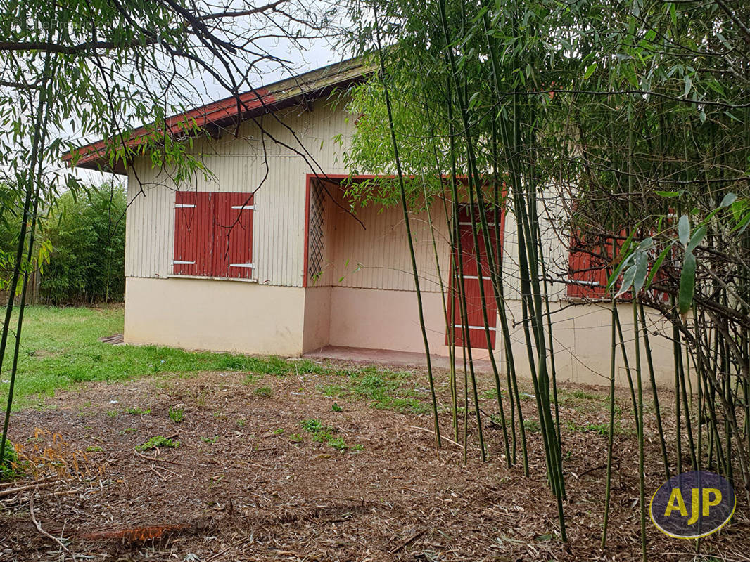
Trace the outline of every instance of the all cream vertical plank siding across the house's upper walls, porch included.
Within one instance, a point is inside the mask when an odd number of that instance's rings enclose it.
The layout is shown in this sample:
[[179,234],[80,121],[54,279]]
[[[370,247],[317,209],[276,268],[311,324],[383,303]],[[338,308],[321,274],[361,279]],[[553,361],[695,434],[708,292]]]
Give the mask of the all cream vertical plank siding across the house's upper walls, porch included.
[[[176,192],[252,193],[252,276],[261,284],[302,287],[305,276],[306,175],[347,174],[343,152],[353,133],[344,103],[324,100],[312,110],[301,106],[259,118],[268,133],[245,122],[226,130],[220,139],[194,139],[191,149],[213,176],[197,172],[191,181],[176,186],[168,171],[154,169],[151,160],[139,158],[128,169],[126,223],[126,277],[166,278],[175,274]],[[289,127],[289,129],[287,129]],[[342,136],[342,144],[334,141]],[[302,142],[302,144],[301,144]],[[291,148],[289,148],[291,147]],[[550,190],[550,193],[553,190]],[[341,198],[335,190],[336,196]],[[543,204],[549,206],[549,198]],[[366,229],[326,196],[323,208],[322,274],[310,286],[341,286],[413,291],[412,266],[404,220],[398,207],[374,205],[356,210]],[[338,200],[341,205],[341,199]],[[347,205],[341,205],[344,208]],[[554,202],[547,217],[560,217]],[[440,292],[433,236],[437,244],[443,290],[449,291],[449,223],[442,204],[431,208],[432,226],[425,211],[413,214],[412,229],[422,289]],[[542,245],[550,271],[566,271],[568,252],[559,243],[552,218],[542,217]],[[506,298],[520,297],[517,235],[512,214],[507,214],[503,237],[503,279]],[[189,260],[184,260],[189,261]],[[184,274],[184,272],[183,272]],[[553,300],[565,297],[565,284],[550,285]]]

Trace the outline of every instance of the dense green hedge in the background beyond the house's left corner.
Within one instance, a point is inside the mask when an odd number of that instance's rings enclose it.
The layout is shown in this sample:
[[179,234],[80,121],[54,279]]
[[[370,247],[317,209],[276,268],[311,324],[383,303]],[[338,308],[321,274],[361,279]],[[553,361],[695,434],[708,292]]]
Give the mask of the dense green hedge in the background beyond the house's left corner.
[[125,193],[104,185],[75,198],[64,193],[43,226],[52,245],[40,292],[49,304],[82,304],[124,297]]

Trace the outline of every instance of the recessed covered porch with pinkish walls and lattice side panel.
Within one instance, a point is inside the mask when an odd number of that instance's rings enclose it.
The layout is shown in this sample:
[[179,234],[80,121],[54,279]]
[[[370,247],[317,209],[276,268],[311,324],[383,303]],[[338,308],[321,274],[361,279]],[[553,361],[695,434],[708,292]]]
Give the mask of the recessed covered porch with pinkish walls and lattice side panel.
[[[422,366],[425,345],[401,207],[352,205],[343,179],[308,176],[303,353]],[[448,368],[452,248],[446,208],[433,204],[429,212],[411,214],[410,223],[430,351]],[[470,273],[466,283],[472,282]],[[493,299],[486,285],[487,299]],[[489,369],[484,330],[473,326],[483,325],[481,308],[473,310],[469,324],[474,357],[487,360]],[[460,336],[460,324],[453,329]],[[492,339],[499,359],[499,341]]]

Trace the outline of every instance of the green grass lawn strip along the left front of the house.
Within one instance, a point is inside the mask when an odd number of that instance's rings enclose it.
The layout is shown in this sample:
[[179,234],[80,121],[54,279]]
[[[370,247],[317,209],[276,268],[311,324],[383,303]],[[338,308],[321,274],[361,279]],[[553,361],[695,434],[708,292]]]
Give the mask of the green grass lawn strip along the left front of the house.
[[[15,317],[14,317],[15,319]],[[14,392],[13,409],[40,403],[55,390],[86,381],[115,382],[158,372],[247,371],[257,375],[317,372],[345,375],[346,382],[326,385],[329,396],[353,395],[371,400],[376,408],[426,410],[417,399],[415,385],[403,373],[383,369],[337,369],[311,360],[280,357],[248,357],[208,351],[182,351],[155,345],[111,345],[99,338],[121,333],[122,306],[104,308],[55,308],[29,306]],[[8,340],[6,360],[0,372],[0,406],[5,409],[14,339]]]

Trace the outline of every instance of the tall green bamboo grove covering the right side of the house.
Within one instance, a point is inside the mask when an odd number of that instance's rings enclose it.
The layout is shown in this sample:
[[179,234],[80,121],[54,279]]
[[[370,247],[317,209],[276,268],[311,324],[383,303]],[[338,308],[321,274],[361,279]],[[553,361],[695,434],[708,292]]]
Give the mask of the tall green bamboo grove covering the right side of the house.
[[[568,262],[562,246],[607,274],[611,303],[606,545],[613,463],[616,370],[624,366],[638,457],[641,547],[646,558],[644,442],[655,438],[664,477],[707,468],[750,486],[750,10],[739,3],[631,0],[534,3],[489,0],[370,0],[350,3],[361,22],[349,42],[380,72],[353,88],[359,113],[347,165],[392,176],[352,184],[362,205],[400,205],[421,280],[410,217],[446,221],[454,249],[437,279],[452,336],[451,426],[469,426],[486,458],[483,419],[468,342],[461,245],[476,256],[481,299],[494,300],[502,360],[488,344],[505,461],[529,473],[517,384],[529,373],[547,480],[565,531],[565,450],[558,410],[555,311]],[[502,213],[517,245],[516,279],[497,241]],[[463,215],[462,215],[463,213]],[[468,214],[468,217],[466,217]],[[460,224],[470,223],[470,237]],[[439,229],[431,229],[436,232]],[[550,238],[553,240],[550,241]],[[433,240],[435,244],[435,240]],[[437,259],[436,250],[436,264]],[[483,276],[486,279],[483,279]],[[486,280],[487,282],[483,282]],[[449,287],[455,294],[449,295]],[[517,295],[511,295],[516,291]],[[521,302],[520,319],[508,297]],[[455,299],[455,300],[454,300]],[[420,297],[420,312],[422,301]],[[458,308],[453,310],[453,308]],[[621,318],[622,316],[622,318]],[[422,333],[425,322],[422,319]],[[483,311],[484,333],[490,323]],[[511,341],[520,325],[523,345]],[[452,334],[454,330],[448,329]],[[673,350],[673,404],[666,420],[652,345]],[[430,353],[428,338],[425,346]],[[472,356],[472,353],[474,356]],[[430,369],[431,371],[431,369]],[[657,435],[645,435],[644,409]],[[668,421],[668,423],[667,423]],[[673,428],[668,430],[667,427]],[[442,432],[442,433],[441,433]]]

